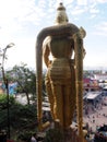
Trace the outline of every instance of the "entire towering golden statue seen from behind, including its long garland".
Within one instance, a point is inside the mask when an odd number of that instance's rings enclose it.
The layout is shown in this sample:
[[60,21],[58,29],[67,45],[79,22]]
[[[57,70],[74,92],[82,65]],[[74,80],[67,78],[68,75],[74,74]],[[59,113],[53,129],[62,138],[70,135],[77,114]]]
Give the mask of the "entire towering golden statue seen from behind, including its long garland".
[[[54,120],[59,120],[62,129],[72,123],[78,109],[79,133],[82,134],[82,81],[83,38],[85,31],[69,23],[62,3],[57,9],[56,23],[44,28],[36,42],[36,93],[38,96],[38,122],[41,125],[41,62],[47,67],[46,90]],[[50,59],[49,56],[52,56]],[[74,55],[74,56],[73,56]]]

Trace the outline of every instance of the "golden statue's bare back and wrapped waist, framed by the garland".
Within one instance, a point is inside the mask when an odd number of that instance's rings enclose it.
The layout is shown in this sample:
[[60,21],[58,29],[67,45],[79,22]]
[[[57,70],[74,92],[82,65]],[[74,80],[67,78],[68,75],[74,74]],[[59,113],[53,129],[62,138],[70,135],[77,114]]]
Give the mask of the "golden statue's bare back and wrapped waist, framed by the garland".
[[50,76],[52,79],[71,79],[71,56],[73,52],[73,40],[69,37],[50,37],[48,43],[54,57]]

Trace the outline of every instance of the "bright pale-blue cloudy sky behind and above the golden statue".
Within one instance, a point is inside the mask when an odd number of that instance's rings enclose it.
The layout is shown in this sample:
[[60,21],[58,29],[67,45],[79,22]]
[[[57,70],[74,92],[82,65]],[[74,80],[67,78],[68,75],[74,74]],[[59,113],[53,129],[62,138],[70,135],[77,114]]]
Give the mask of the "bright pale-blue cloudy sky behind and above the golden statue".
[[107,0],[0,0],[0,48],[15,44],[7,50],[5,68],[36,68],[36,36],[55,24],[60,2],[69,22],[86,31],[84,69],[107,69]]

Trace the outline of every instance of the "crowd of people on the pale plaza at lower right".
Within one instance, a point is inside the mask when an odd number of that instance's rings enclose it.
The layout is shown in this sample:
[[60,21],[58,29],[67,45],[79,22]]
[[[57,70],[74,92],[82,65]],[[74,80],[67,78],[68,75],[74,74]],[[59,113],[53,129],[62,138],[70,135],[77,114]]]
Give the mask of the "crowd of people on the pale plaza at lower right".
[[[95,141],[95,138],[99,138],[100,135],[97,130],[107,125],[107,96],[103,95],[98,100],[93,103],[85,103],[84,106],[84,122],[88,126],[88,138],[92,141]],[[102,135],[104,135],[102,133]],[[107,135],[104,135],[107,138]],[[98,141],[97,141],[98,142]],[[99,142],[105,142],[99,141]]]

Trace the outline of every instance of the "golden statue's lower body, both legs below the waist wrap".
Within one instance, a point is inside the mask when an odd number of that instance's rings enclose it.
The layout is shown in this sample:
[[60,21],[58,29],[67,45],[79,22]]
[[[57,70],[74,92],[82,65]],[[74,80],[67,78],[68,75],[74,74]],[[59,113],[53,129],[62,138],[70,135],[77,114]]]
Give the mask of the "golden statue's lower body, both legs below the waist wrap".
[[[74,83],[74,82],[73,82]],[[54,114],[55,119],[59,119],[63,129],[72,123],[75,110],[75,88],[71,81],[66,85],[51,83],[52,94],[55,97]],[[72,90],[73,87],[73,90]]]

